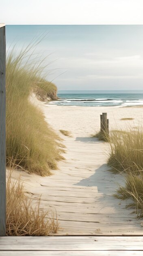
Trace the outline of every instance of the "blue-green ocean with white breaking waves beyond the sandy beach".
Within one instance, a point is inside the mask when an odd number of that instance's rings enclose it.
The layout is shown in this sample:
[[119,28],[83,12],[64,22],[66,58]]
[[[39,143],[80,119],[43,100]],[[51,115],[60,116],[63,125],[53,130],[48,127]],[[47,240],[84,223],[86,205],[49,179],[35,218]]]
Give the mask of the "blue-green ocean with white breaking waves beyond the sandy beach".
[[85,92],[59,92],[58,101],[50,104],[60,106],[141,106],[143,105],[143,92],[138,93],[93,93]]

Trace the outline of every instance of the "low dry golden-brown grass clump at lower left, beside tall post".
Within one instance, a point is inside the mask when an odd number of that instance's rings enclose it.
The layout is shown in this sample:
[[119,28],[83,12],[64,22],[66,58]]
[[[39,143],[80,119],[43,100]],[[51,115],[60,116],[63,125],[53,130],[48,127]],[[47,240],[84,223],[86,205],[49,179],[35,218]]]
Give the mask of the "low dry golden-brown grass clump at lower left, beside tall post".
[[32,206],[32,200],[24,193],[20,179],[11,181],[9,171],[6,187],[6,235],[48,236],[58,230],[56,214]]

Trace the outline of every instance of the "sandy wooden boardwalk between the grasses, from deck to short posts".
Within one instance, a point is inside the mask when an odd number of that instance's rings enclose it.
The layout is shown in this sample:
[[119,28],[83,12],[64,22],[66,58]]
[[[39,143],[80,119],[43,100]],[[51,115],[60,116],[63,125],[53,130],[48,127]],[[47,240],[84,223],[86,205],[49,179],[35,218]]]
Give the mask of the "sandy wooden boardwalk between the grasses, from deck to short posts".
[[66,161],[54,175],[22,177],[33,202],[41,196],[41,208],[56,209],[56,235],[142,235],[140,220],[126,209],[126,201],[113,197],[121,177],[108,171],[105,144],[76,137],[65,145]]

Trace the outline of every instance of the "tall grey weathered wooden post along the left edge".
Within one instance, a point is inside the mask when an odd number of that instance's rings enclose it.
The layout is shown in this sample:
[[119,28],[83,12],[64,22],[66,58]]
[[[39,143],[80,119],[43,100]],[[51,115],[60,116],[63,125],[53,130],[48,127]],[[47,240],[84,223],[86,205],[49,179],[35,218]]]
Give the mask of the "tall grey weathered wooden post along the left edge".
[[6,235],[6,44],[5,25],[0,24],[0,236]]

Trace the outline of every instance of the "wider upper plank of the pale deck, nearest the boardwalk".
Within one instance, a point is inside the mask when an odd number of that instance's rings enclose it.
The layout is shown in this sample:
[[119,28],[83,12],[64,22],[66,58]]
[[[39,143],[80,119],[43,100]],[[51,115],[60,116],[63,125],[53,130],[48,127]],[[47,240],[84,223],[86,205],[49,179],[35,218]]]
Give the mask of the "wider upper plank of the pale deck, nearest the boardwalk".
[[143,250],[143,236],[9,236],[0,237],[0,250],[139,251]]

